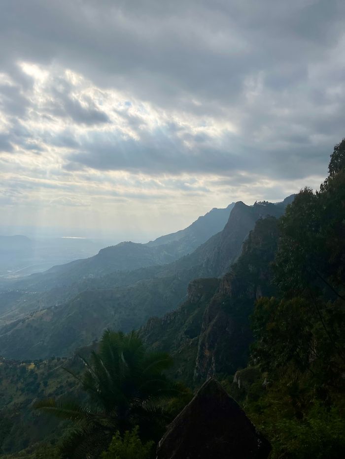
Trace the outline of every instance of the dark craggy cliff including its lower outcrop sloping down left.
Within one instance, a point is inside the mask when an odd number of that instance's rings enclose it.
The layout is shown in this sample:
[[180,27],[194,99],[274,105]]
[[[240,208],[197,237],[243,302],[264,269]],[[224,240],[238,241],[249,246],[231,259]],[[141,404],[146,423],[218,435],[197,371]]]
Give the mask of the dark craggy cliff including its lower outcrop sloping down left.
[[252,339],[249,316],[254,302],[274,294],[270,264],[278,239],[277,221],[257,221],[243,244],[242,254],[220,279],[197,279],[189,284],[188,300],[142,329],[145,342],[171,352],[174,376],[187,374],[195,384],[221,372],[245,366]]

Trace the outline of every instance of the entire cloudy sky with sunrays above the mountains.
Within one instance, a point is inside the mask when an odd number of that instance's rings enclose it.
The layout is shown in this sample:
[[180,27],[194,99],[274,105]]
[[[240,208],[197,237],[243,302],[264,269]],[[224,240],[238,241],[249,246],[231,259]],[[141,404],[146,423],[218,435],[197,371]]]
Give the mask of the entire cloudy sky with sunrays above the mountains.
[[317,187],[345,136],[344,17],[343,0],[1,0],[0,232],[140,240]]

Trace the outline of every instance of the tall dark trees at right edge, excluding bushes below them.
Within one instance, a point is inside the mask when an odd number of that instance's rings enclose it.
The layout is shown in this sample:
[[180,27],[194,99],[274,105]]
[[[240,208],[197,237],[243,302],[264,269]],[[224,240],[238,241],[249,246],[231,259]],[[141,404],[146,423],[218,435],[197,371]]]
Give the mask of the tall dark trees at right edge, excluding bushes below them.
[[280,292],[256,306],[256,357],[268,370],[293,363],[331,387],[345,362],[345,140],[334,148],[320,191],[301,190],[279,230]]

